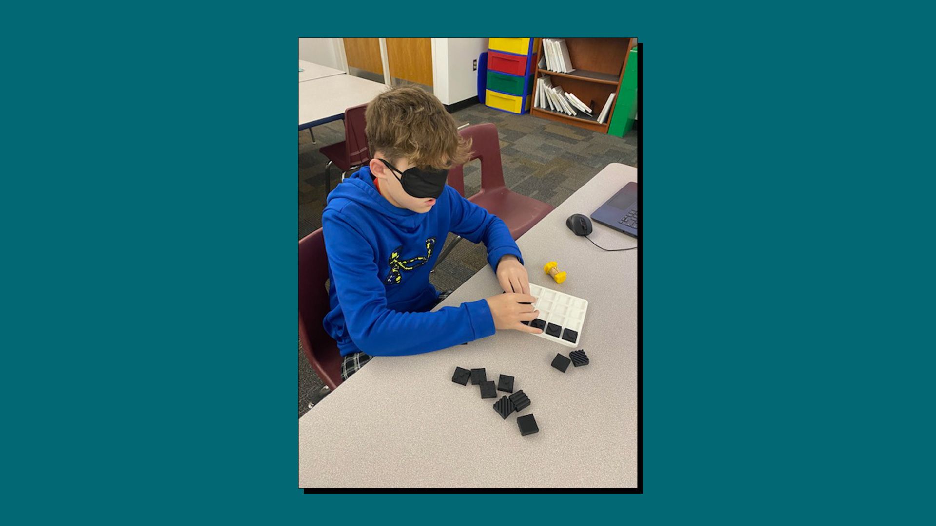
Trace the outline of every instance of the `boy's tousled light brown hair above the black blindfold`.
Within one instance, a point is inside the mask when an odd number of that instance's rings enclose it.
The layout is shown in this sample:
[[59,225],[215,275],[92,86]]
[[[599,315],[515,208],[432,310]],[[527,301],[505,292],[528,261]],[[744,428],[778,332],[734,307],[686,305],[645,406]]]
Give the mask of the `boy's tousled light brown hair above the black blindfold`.
[[419,168],[452,168],[470,155],[471,141],[461,139],[442,102],[417,86],[377,95],[364,118],[368,150],[384,153],[390,162],[405,157]]

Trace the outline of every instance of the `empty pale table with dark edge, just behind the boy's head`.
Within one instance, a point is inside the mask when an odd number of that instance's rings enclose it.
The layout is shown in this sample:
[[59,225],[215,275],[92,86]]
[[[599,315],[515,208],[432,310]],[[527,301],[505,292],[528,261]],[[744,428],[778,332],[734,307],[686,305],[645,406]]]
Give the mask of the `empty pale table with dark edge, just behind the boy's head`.
[[299,129],[344,118],[344,110],[366,104],[388,89],[386,84],[352,75],[333,75],[299,83]]

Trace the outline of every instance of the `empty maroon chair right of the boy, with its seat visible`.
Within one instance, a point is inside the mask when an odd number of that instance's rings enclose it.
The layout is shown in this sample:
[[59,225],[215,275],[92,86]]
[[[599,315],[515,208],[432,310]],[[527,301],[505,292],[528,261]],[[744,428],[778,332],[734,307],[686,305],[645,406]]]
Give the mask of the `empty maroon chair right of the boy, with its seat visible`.
[[[494,124],[475,124],[461,129],[461,137],[472,139],[472,154],[469,161],[481,159],[481,191],[468,200],[493,213],[510,228],[510,235],[517,240],[527,230],[552,212],[552,207],[533,197],[511,191],[504,183],[504,167],[501,165],[501,142]],[[448,185],[464,196],[464,172],[461,165],[448,171]],[[461,241],[461,237],[446,246],[439,256],[438,265],[448,252]]]

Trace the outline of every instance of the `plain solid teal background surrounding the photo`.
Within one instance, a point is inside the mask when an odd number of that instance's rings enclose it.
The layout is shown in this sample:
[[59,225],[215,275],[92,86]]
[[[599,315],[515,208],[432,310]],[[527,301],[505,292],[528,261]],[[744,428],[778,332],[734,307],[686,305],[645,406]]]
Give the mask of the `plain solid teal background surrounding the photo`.
[[931,235],[912,226],[931,225],[931,132],[913,124],[931,103],[903,66],[925,45],[795,3],[575,25],[644,43],[644,494],[302,495],[296,38],[568,32],[533,5],[340,7],[7,11],[9,516],[926,516]]

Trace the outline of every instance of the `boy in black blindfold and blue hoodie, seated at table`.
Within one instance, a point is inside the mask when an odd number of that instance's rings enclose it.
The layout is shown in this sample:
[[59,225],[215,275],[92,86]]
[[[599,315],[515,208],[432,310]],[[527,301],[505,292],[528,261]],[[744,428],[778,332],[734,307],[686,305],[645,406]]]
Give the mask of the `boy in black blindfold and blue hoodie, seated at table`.
[[[329,194],[322,227],[329,257],[326,332],[342,354],[342,378],[373,356],[402,356],[472,342],[495,329],[539,333],[539,314],[517,243],[504,222],[446,185],[470,152],[437,98],[412,86],[368,105],[370,153]],[[429,312],[441,300],[429,271],[448,232],[484,241],[505,294]]]

